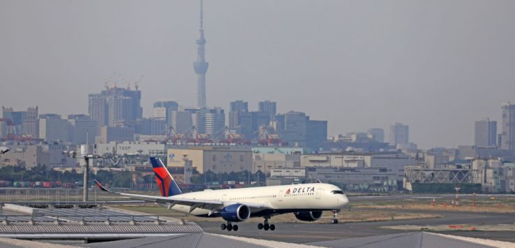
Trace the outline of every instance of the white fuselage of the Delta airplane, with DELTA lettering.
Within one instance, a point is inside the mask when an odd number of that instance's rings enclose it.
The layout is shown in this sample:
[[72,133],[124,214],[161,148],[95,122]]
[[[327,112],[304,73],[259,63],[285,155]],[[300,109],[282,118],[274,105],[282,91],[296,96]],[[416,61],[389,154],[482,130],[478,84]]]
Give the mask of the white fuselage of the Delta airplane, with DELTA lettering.
[[[339,192],[339,193],[334,193]],[[285,213],[297,211],[316,210],[340,210],[349,200],[341,189],[333,184],[292,184],[269,187],[253,187],[245,189],[218,189],[205,190],[193,193],[185,193],[174,198],[195,200],[220,200],[224,205],[237,203],[262,203],[269,205],[271,212]],[[191,210],[189,205],[172,205],[171,210],[192,214],[201,217],[217,217],[217,214],[209,214],[210,210],[195,208]],[[261,210],[251,210],[251,217],[261,216]]]

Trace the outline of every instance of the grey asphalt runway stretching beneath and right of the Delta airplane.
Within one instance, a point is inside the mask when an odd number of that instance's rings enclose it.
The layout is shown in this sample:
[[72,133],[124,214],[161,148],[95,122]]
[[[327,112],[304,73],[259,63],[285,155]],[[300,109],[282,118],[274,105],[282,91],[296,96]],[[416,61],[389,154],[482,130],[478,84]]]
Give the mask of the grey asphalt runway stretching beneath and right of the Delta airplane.
[[[410,212],[427,212],[415,211]],[[350,212],[348,212],[350,213]],[[341,212],[345,214],[345,212]],[[239,235],[248,238],[260,238],[267,240],[276,240],[282,242],[306,243],[318,242],[324,240],[338,240],[343,238],[357,238],[373,235],[385,235],[393,233],[405,233],[411,231],[400,231],[380,228],[380,226],[396,226],[396,225],[438,225],[438,224],[514,224],[515,214],[512,213],[485,213],[485,212],[438,212],[444,215],[437,219],[412,219],[402,221],[380,221],[380,222],[361,222],[346,224],[281,224],[275,223],[274,218],[270,220],[271,224],[276,225],[275,231],[263,231],[257,229],[255,223],[240,223],[239,230],[223,231],[219,222],[197,221],[205,232],[218,233],[223,235]],[[451,235],[461,235],[472,238],[486,238],[492,240],[501,240],[515,242],[515,236],[510,231],[446,231],[438,232]]]

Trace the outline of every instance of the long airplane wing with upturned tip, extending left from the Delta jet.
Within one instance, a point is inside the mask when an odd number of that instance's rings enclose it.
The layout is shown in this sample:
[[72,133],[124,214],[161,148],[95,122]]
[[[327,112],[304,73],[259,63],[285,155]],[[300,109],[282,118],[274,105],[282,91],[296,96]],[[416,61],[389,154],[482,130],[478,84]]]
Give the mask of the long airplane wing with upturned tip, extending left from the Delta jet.
[[[106,189],[105,187],[100,184],[97,180],[94,180],[96,183],[96,186],[100,188],[102,191],[109,192],[111,194],[117,194],[120,196],[127,196],[128,198],[133,198],[137,200],[145,200],[148,202],[154,202],[154,203],[165,203],[168,204],[168,207],[172,207],[173,205],[188,205],[190,206],[190,212],[193,211],[195,208],[204,208],[207,210],[221,210],[226,205],[231,205],[236,202],[229,202],[229,201],[221,201],[221,200],[200,200],[200,199],[191,199],[191,198],[181,198],[179,196],[147,196],[147,195],[140,195],[140,194],[127,194],[127,193],[121,193],[121,192],[115,192],[110,191],[109,189]],[[271,208],[271,206],[268,203],[244,203],[244,202],[237,202],[244,205],[247,205],[248,207],[255,208],[255,209],[267,209]]]

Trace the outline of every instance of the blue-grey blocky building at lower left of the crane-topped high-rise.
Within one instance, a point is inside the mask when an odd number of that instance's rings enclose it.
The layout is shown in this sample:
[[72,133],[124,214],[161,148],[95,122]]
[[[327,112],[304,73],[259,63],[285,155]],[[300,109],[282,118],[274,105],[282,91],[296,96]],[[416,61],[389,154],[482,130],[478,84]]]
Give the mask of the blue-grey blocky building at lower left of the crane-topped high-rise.
[[70,124],[70,143],[73,145],[94,144],[96,136],[96,121],[89,115],[68,115]]

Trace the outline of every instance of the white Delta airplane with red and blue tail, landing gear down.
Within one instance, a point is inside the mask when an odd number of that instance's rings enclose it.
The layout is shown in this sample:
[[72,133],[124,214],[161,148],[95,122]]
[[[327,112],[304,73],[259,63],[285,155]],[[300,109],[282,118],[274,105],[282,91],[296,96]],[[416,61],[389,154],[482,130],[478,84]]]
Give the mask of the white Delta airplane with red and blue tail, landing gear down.
[[[310,183],[241,189],[206,189],[183,193],[163,165],[163,161],[150,157],[161,196],[126,194],[106,189],[98,181],[100,190],[167,205],[168,210],[191,214],[196,217],[222,217],[227,223],[222,230],[238,231],[238,222],[253,217],[264,218],[258,229],[274,231],[276,226],[269,219],[278,214],[293,213],[301,221],[316,221],[323,211],[334,213],[332,224],[337,224],[336,212],[340,212],[349,200],[343,191],[333,184]],[[234,223],[234,224],[233,224]]]

